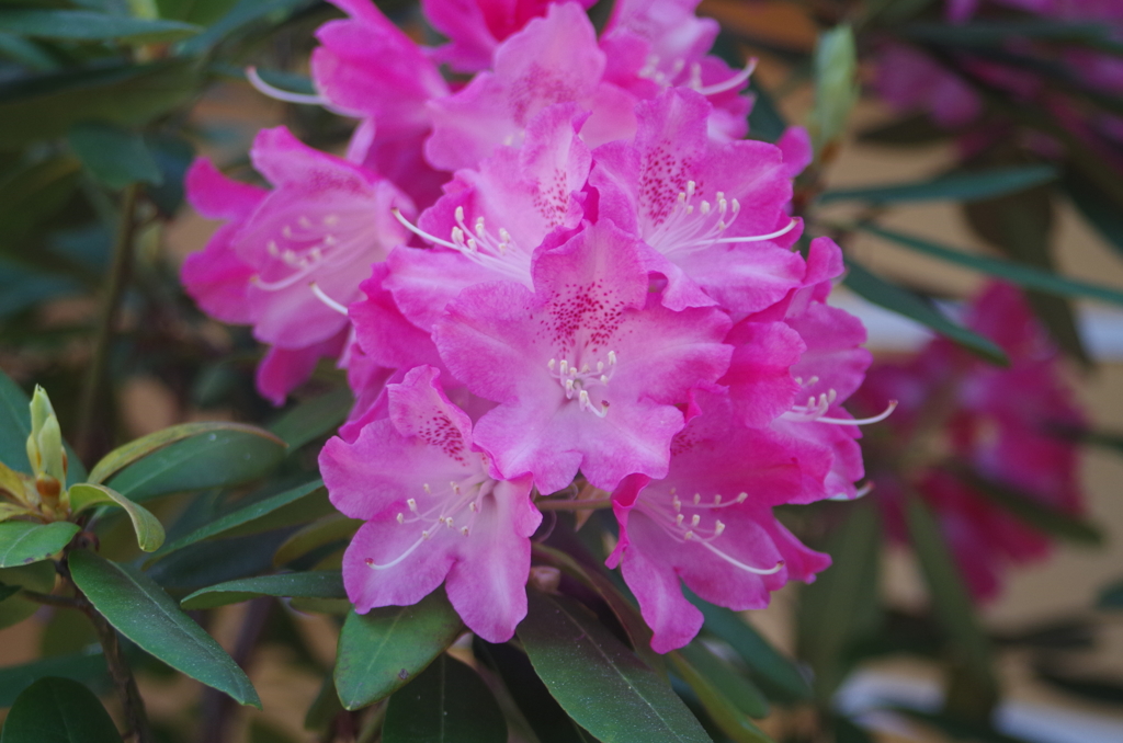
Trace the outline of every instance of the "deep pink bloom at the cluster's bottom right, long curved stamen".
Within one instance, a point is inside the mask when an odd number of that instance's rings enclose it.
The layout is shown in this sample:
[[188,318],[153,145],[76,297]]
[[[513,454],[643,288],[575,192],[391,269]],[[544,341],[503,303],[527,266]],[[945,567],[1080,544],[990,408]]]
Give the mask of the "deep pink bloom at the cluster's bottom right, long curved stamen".
[[620,541],[608,565],[620,565],[660,653],[702,627],[679,580],[713,604],[764,608],[770,591],[810,583],[831,562],[772,514],[804,501],[798,442],[739,425],[724,395],[700,393],[697,402],[701,414],[675,437],[667,476],[631,476],[613,494]]

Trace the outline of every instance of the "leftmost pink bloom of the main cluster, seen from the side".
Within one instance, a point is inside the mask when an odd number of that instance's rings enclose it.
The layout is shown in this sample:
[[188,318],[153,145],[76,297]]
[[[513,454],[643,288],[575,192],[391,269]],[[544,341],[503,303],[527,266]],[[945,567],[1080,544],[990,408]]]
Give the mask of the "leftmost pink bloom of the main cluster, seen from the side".
[[407,236],[390,209],[412,205],[389,182],[305,147],[283,127],[263,130],[250,157],[273,191],[228,181],[206,159],[189,173],[192,204],[230,223],[188,257],[183,283],[208,313],[252,324],[280,349],[259,375],[280,403],[318,354],[343,350],[343,306],[358,299],[371,264]]

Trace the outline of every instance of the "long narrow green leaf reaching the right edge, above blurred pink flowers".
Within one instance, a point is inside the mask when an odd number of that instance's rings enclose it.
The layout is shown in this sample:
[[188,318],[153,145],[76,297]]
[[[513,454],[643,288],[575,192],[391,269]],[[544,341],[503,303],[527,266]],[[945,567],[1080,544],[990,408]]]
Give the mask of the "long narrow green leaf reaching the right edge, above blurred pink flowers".
[[926,239],[887,230],[868,222],[858,224],[858,229],[885,238],[886,240],[892,240],[906,248],[912,248],[917,253],[923,253],[984,274],[997,276],[1026,288],[1035,288],[1058,296],[1075,296],[1123,304],[1123,292],[1108,286],[1065,278],[1063,276],[1058,276],[1057,274],[1035,268],[1024,263],[971,255]]

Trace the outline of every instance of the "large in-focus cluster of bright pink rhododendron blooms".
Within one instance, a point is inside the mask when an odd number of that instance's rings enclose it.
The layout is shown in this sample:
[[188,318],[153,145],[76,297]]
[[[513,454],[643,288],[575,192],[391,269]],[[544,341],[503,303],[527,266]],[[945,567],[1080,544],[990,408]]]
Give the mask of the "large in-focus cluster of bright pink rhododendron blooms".
[[197,163],[193,203],[228,223],[183,275],[272,346],[274,401],[320,357],[347,367],[357,403],[320,467],[366,521],[344,558],[356,609],[444,584],[510,639],[544,499],[611,497],[609,562],[660,652],[702,623],[679,580],[747,609],[813,579],[829,558],[772,507],[856,497],[841,403],[865,330],[825,303],[838,247],[794,249],[806,134],[743,139],[751,68],[709,54],[696,0],[618,1],[600,36],[578,2],[429,0],[437,49],[335,1],[312,72],[360,120],[346,157],[263,131],[270,192]]

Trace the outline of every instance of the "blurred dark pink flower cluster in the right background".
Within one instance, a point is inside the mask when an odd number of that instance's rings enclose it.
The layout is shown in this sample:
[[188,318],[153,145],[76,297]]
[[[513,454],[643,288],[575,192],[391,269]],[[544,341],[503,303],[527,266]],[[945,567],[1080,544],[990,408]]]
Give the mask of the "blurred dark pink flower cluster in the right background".
[[[873,478],[891,530],[904,539],[901,501],[919,493],[940,522],[971,593],[994,598],[1010,563],[1044,557],[1049,540],[992,502],[964,468],[1065,513],[1081,510],[1074,443],[1058,430],[1081,418],[1061,380],[1059,355],[1021,293],[990,285],[968,325],[1006,351],[1001,368],[944,339],[913,360],[874,367],[857,400],[867,409],[901,401],[875,448]],[[934,443],[934,442],[942,443]],[[876,443],[876,442],[875,442]],[[889,462],[909,451],[910,468]]]

